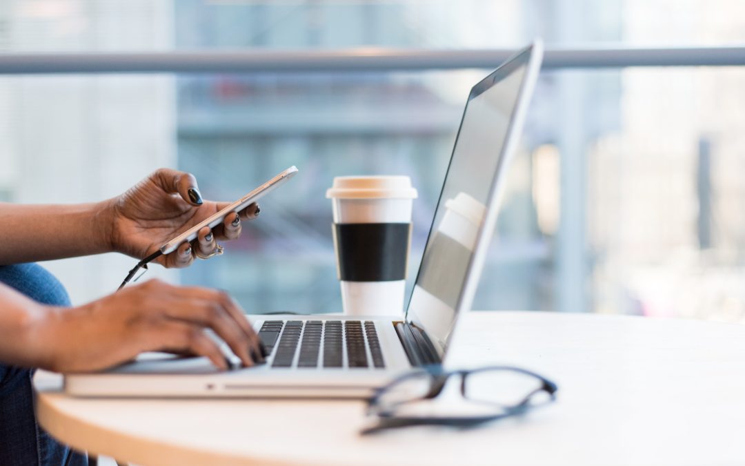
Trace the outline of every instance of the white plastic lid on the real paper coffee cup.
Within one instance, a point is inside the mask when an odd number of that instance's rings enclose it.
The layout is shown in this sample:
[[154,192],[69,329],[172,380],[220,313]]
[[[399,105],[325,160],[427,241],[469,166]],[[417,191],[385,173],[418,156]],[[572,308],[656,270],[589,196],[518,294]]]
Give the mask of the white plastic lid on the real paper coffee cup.
[[335,177],[334,185],[326,191],[326,198],[375,199],[375,198],[416,198],[416,189],[405,175]]

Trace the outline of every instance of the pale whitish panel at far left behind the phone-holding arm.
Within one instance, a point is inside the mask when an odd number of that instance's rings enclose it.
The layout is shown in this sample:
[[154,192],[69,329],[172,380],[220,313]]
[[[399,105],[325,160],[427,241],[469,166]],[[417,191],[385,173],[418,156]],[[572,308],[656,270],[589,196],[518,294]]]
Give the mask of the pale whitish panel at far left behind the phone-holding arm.
[[[103,201],[176,166],[173,91],[166,76],[0,77],[0,201]],[[135,263],[104,254],[44,265],[82,304],[114,292]],[[178,273],[153,266],[152,277]]]

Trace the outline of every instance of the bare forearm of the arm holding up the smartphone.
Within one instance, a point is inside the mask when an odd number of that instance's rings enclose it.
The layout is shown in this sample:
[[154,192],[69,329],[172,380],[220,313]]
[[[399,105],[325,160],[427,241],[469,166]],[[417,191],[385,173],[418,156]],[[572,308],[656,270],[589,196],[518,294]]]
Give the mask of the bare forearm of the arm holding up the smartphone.
[[109,203],[0,203],[0,265],[112,251]]

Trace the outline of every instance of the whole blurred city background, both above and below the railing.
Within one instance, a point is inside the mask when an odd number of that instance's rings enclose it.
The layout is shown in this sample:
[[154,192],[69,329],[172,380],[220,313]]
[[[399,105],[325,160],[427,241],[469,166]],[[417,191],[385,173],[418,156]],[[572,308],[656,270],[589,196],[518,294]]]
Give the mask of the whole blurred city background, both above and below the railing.
[[[679,47],[745,42],[704,0],[4,0],[1,52]],[[497,66],[498,63],[494,63]],[[338,312],[325,190],[408,174],[415,277],[470,86],[489,69],[0,75],[0,201],[86,202],[160,166],[233,200],[291,165],[229,254],[150,276],[247,312]],[[745,68],[542,72],[475,309],[745,321]],[[135,260],[47,262],[74,303]]]

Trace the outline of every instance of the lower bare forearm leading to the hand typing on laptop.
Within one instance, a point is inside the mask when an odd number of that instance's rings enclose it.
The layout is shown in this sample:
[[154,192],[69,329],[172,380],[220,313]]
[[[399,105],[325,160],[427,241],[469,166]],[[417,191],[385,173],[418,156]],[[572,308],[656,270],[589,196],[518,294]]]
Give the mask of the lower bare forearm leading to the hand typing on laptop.
[[47,306],[0,283],[0,362],[28,368],[51,368],[51,341],[36,338],[43,321],[55,318]]

